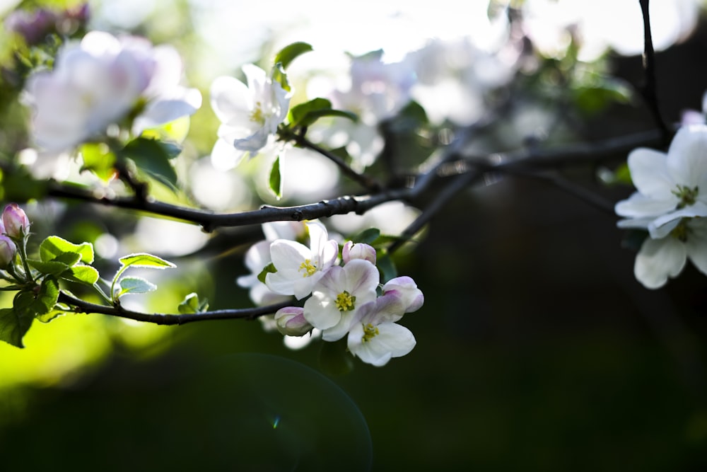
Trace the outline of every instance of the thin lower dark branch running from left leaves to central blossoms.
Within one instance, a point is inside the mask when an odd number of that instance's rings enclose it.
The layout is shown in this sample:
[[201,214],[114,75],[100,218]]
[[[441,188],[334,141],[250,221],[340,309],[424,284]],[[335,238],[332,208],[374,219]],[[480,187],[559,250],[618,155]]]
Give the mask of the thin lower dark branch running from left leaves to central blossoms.
[[146,323],[155,323],[157,325],[183,325],[185,323],[193,323],[194,321],[206,320],[231,320],[231,319],[247,319],[254,320],[259,316],[275,313],[285,306],[296,304],[295,301],[284,302],[276,305],[258,306],[249,309],[231,309],[231,310],[214,310],[203,311],[201,313],[141,313],[122,308],[122,306],[107,306],[83,301],[65,292],[59,293],[59,303],[63,303],[74,307],[76,313],[100,313],[103,315],[119,316],[120,318],[128,318],[135,321],[144,321]]

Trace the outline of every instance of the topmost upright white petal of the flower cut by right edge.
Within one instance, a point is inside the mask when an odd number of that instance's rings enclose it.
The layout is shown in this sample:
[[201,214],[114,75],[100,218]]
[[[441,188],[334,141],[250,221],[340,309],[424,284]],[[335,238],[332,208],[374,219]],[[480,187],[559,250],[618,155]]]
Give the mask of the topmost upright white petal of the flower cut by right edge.
[[689,188],[706,183],[707,125],[682,127],[675,134],[667,156],[667,167],[676,183]]

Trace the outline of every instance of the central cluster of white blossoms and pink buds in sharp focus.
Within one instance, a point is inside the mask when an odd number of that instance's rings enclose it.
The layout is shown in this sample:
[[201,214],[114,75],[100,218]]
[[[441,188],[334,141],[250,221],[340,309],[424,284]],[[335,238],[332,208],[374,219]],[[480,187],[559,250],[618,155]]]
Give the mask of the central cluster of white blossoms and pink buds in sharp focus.
[[[242,287],[250,287],[256,303],[281,297],[305,300],[303,306],[277,311],[276,328],[290,336],[317,329],[325,341],[346,337],[349,351],[375,366],[407,355],[416,341],[397,321],[423,304],[414,280],[395,277],[381,284],[375,248],[346,241],[339,257],[339,244],[329,239],[322,223],[308,221],[299,229],[293,225],[265,224],[266,237],[274,238],[250,248],[246,264],[253,273],[238,279]],[[295,240],[305,232],[308,245]]]

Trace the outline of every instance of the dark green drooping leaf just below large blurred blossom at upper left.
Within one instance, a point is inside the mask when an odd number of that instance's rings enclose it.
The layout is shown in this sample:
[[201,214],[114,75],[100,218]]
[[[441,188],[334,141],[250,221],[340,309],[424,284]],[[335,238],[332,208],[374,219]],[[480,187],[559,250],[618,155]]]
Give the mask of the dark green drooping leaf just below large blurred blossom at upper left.
[[121,155],[132,159],[138,168],[153,178],[171,188],[176,188],[177,172],[170,163],[170,159],[178,156],[181,151],[180,146],[176,144],[139,137],[126,144]]

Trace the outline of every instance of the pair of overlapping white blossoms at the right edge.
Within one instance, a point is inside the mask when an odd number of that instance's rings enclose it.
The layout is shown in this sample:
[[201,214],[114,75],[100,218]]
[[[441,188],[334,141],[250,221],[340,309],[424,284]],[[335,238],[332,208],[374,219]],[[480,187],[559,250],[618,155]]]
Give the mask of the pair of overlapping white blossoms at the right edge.
[[684,126],[667,154],[639,148],[629,154],[637,191],[618,202],[621,228],[648,231],[634,273],[649,289],[682,272],[686,260],[707,275],[707,125]]

